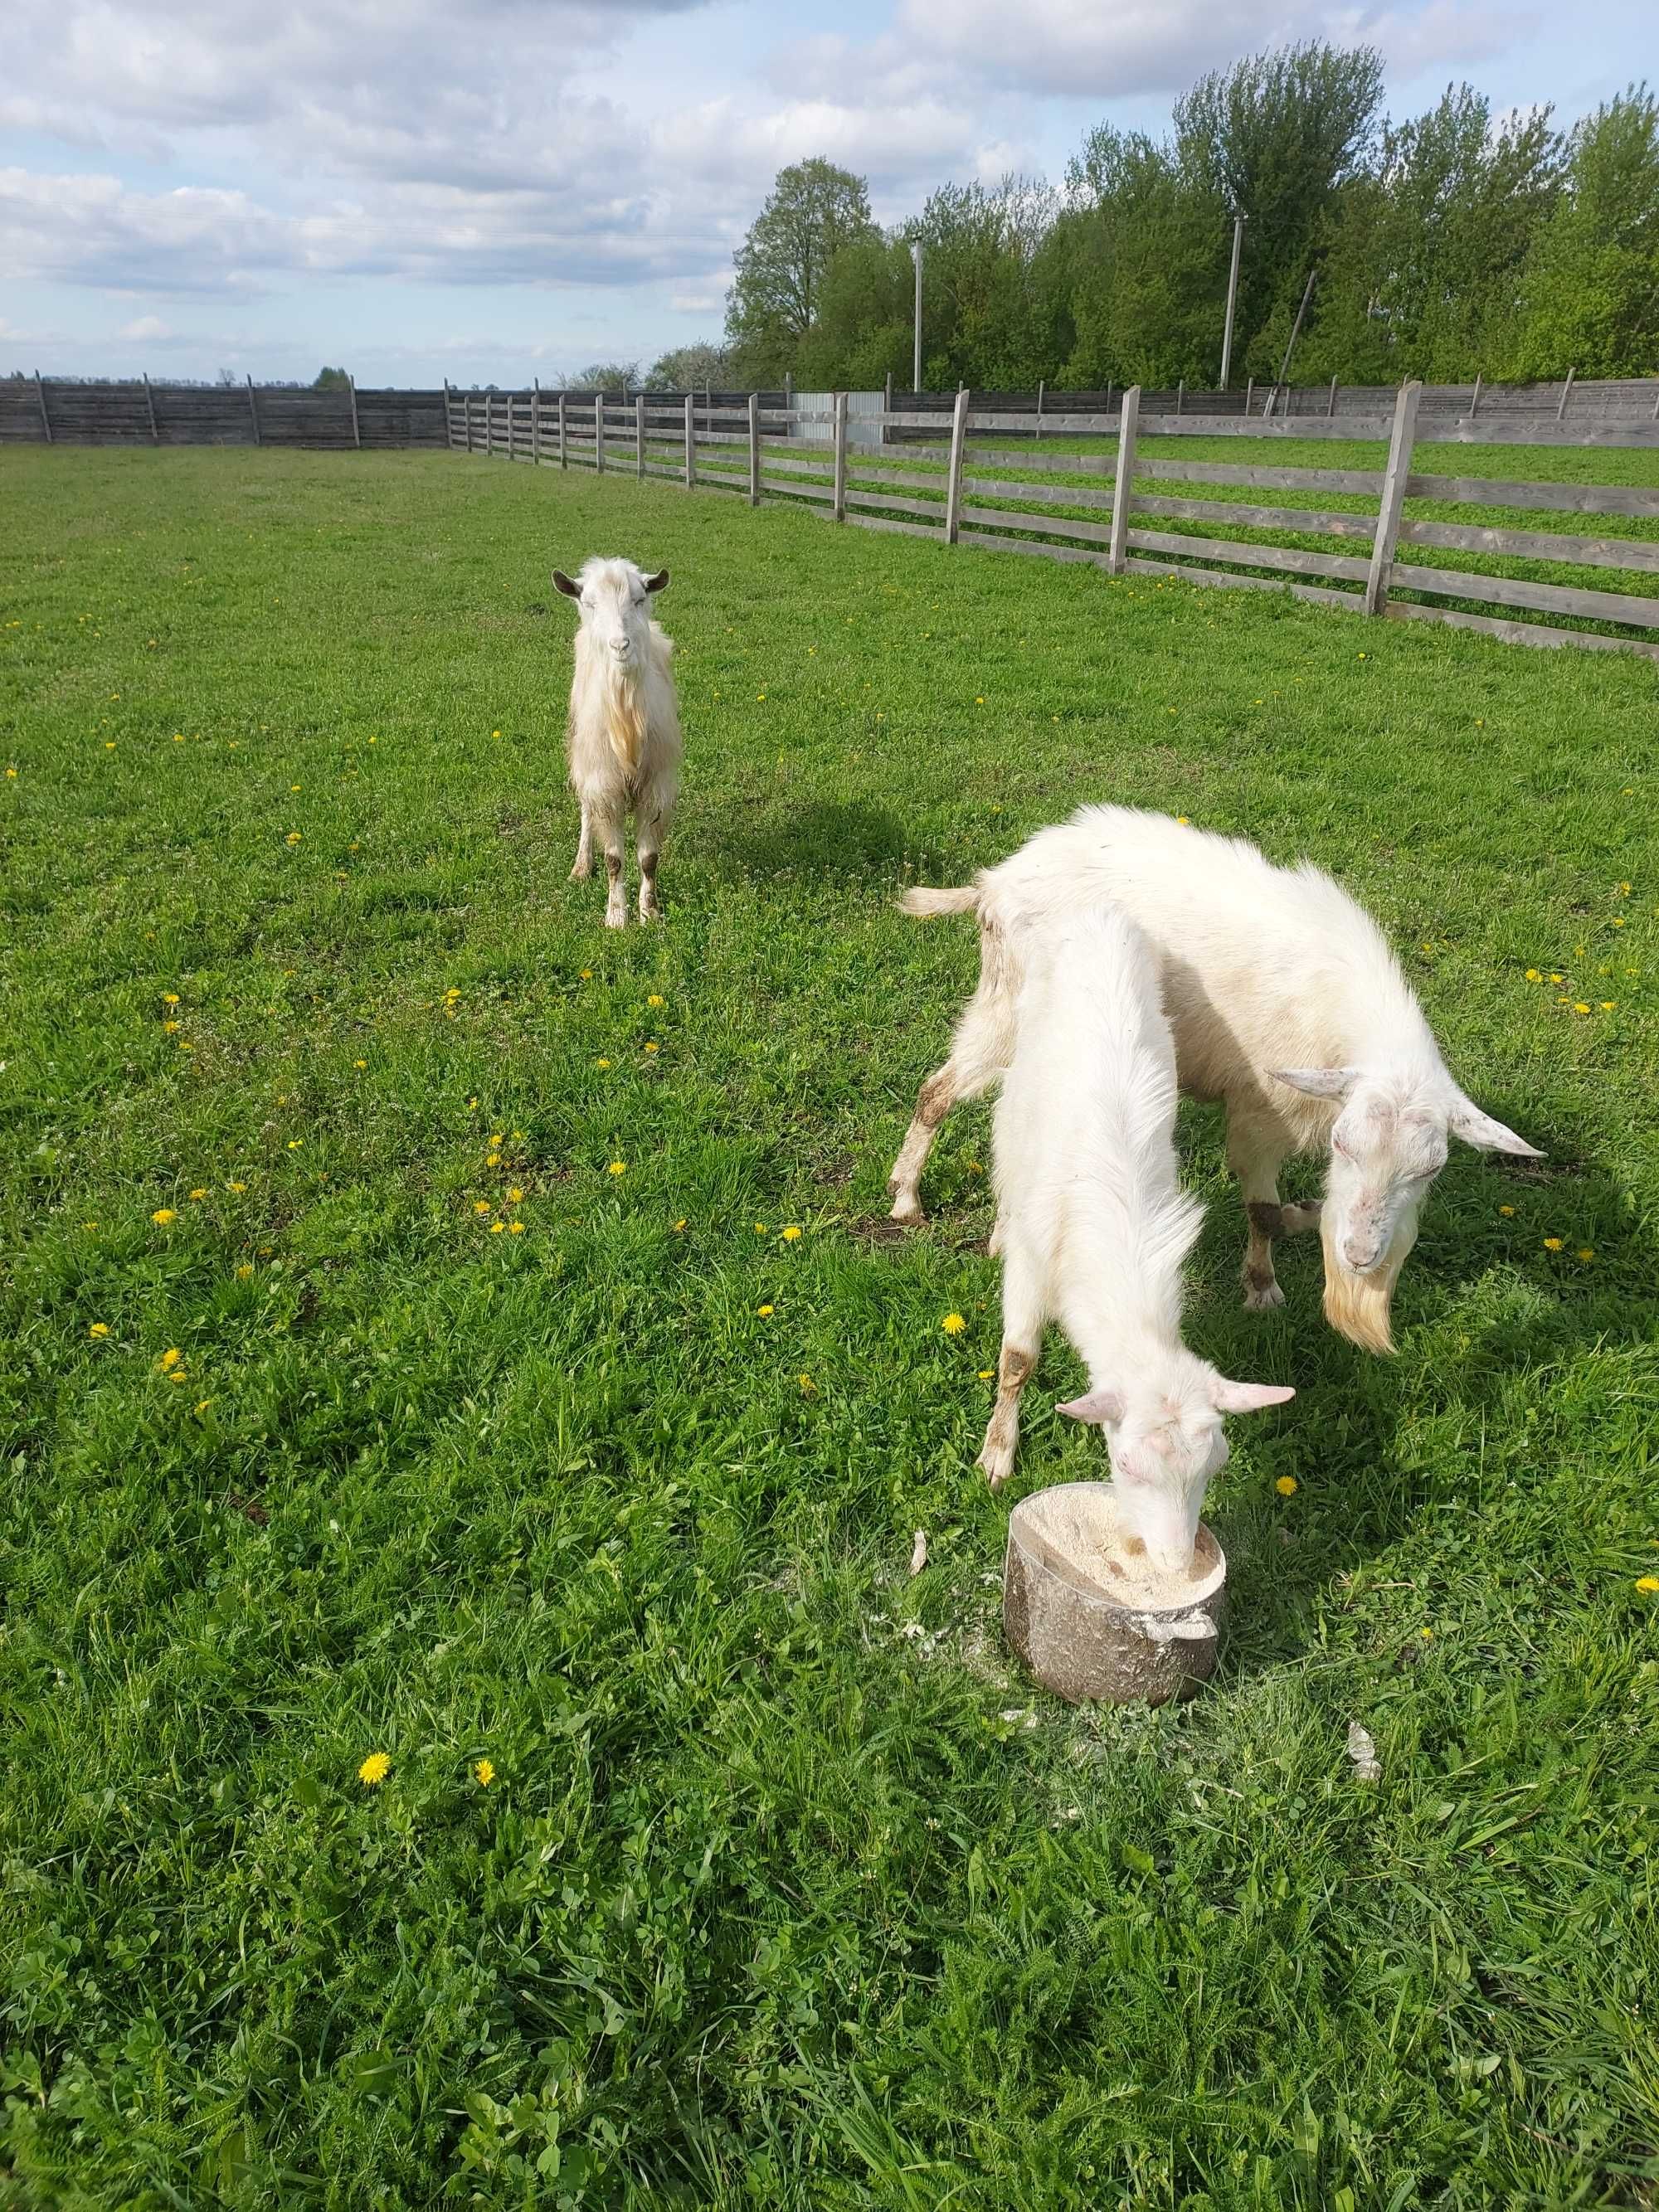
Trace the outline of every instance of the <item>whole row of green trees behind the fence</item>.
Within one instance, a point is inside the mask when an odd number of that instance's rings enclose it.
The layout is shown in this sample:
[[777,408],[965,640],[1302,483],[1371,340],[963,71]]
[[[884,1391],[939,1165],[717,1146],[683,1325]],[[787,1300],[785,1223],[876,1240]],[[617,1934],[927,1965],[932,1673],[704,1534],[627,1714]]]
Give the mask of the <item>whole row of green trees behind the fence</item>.
[[1234,215],[1234,383],[1276,378],[1292,332],[1298,383],[1659,372],[1646,84],[1571,128],[1551,108],[1495,117],[1471,84],[1394,122],[1374,49],[1307,42],[1201,77],[1164,137],[1097,124],[1057,188],[945,184],[891,230],[863,177],[781,170],[723,343],[664,354],[648,383],[909,389],[920,243],[925,389],[1208,389]]

